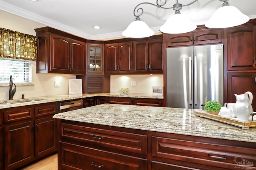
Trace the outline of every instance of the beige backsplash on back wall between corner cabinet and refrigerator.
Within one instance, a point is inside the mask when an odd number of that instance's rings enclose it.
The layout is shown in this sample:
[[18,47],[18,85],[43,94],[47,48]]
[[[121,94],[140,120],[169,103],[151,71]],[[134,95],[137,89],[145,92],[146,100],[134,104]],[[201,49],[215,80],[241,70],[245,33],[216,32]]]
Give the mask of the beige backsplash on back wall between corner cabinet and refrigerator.
[[[132,86],[132,81],[136,81],[136,86]],[[152,94],[153,86],[163,87],[163,75],[111,75],[110,92],[118,93],[120,88],[131,89],[130,93]]]

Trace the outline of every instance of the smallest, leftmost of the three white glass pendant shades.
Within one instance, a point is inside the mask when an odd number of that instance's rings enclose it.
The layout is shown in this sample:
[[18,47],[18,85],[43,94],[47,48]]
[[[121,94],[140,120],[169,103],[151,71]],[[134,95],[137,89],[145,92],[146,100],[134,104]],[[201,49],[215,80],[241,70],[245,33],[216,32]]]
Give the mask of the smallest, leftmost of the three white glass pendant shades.
[[154,34],[154,31],[145,22],[141,21],[139,17],[122,32],[123,36],[129,38],[145,38]]

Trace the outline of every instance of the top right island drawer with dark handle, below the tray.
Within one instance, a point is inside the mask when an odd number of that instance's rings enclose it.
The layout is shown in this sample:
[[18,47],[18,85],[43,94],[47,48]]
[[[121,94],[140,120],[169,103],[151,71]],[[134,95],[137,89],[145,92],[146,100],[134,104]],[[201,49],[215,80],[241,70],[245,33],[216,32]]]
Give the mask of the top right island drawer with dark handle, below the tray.
[[[172,160],[182,160],[193,164],[237,169],[238,164],[255,167],[256,149],[232,145],[231,142],[217,143],[200,140],[183,140],[152,136],[152,156]],[[218,141],[218,140],[217,140]],[[237,142],[237,141],[236,141]],[[255,146],[253,148],[256,148]],[[247,167],[247,168],[248,168]],[[196,168],[196,167],[195,167]],[[210,168],[211,169],[211,168]]]

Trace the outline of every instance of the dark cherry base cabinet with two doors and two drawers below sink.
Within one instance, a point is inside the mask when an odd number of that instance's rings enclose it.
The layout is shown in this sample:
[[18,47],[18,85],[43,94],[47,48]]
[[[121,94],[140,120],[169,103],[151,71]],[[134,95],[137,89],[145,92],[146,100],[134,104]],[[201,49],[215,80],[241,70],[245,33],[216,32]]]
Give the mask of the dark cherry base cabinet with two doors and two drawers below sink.
[[4,128],[4,141],[2,141],[4,168],[2,169],[16,169],[56,152],[57,127],[56,120],[52,118],[56,113],[56,103],[0,110],[0,114],[5,119],[2,125]]

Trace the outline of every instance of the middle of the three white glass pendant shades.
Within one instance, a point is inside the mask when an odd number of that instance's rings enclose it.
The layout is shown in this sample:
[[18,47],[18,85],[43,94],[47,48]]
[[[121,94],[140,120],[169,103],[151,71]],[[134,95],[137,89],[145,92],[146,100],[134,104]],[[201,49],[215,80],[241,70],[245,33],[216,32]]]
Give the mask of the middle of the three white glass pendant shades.
[[196,27],[196,24],[193,24],[186,15],[177,13],[170,16],[159,30],[166,34],[181,34],[196,30]]

